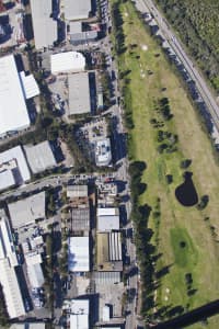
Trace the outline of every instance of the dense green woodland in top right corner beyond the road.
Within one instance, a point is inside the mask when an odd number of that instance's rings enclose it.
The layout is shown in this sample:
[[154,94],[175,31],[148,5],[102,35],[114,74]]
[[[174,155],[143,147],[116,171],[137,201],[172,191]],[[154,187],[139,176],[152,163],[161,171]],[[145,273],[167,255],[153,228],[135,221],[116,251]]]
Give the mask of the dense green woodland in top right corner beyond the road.
[[192,56],[219,91],[219,42],[217,0],[157,0],[178,31]]

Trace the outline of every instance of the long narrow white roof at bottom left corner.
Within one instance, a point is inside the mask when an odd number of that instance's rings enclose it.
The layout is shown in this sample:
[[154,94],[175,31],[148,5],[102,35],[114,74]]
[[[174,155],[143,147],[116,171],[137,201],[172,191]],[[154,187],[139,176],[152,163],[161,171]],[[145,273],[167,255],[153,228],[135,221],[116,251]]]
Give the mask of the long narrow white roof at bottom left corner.
[[21,291],[14,268],[11,268],[8,259],[0,260],[0,283],[3,287],[7,310],[11,319],[25,314]]

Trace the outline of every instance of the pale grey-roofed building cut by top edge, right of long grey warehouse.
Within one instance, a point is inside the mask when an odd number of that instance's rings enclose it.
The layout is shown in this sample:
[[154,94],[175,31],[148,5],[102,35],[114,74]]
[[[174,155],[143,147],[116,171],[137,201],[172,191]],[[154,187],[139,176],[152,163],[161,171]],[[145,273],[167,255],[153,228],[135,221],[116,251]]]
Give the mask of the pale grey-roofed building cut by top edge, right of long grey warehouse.
[[91,0],[65,0],[65,19],[78,21],[89,18],[91,12]]

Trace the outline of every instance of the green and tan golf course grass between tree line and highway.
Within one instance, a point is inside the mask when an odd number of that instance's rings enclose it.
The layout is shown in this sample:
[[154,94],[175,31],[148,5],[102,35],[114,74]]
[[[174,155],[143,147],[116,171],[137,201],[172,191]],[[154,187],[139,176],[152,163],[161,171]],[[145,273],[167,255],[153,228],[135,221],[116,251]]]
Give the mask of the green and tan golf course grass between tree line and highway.
[[[196,111],[160,47],[146,32],[132,4],[126,2],[120,8],[127,50],[119,57],[118,66],[123,71],[129,70],[126,79],[129,79],[128,97],[135,124],[129,132],[129,155],[131,160],[147,163],[142,177],[147,190],[140,196],[140,203],[148,203],[154,209],[160,198],[160,220],[150,216],[153,243],[161,253],[157,270],[162,273],[162,269],[168,269],[157,292],[158,308],[182,306],[193,309],[218,298],[219,168]],[[162,129],[178,137],[177,151],[173,154],[158,152],[158,128],[150,123],[151,118],[161,121],[154,110],[154,103],[161,98],[169,99],[173,114]],[[209,196],[204,211],[196,206],[184,207],[175,198],[175,188],[183,182],[184,170],[180,166],[183,159],[192,160],[188,170],[193,172],[198,196]],[[171,184],[166,183],[166,174],[173,178]],[[184,248],[180,247],[182,241],[185,242]],[[186,291],[186,273],[193,276],[195,293],[192,296]],[[212,322],[207,328],[217,326]]]

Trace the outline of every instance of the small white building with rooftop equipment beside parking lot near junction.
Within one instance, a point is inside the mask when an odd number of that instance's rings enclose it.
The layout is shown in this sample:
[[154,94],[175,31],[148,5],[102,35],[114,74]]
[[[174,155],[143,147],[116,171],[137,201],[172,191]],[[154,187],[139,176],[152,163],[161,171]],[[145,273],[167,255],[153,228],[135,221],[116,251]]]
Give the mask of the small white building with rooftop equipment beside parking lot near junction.
[[108,166],[112,161],[111,139],[104,138],[96,141],[95,146],[95,162],[96,166]]

